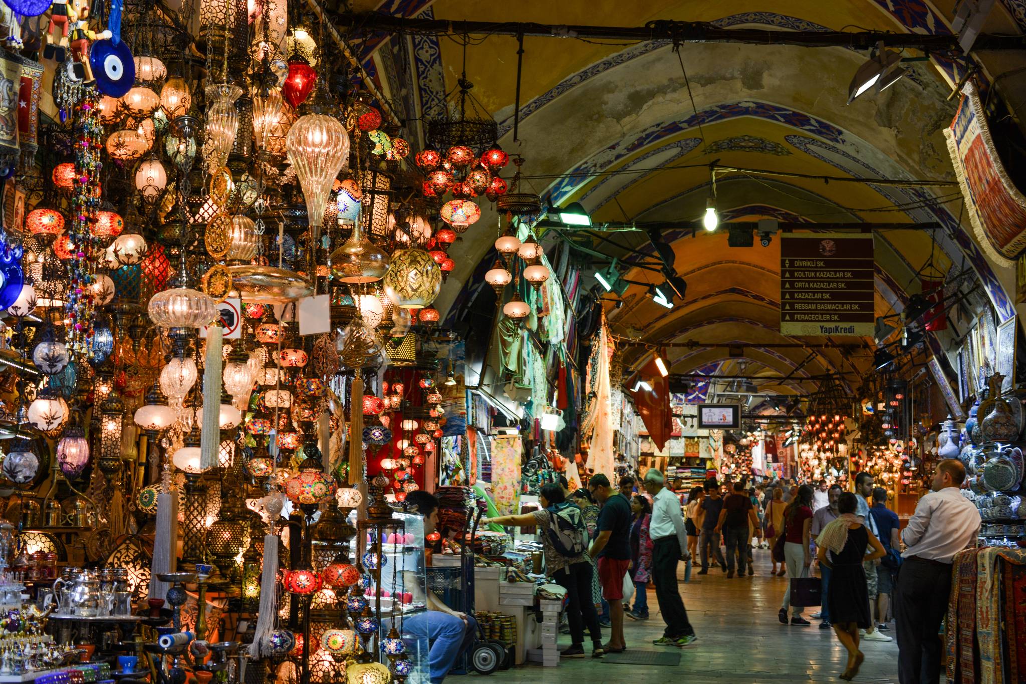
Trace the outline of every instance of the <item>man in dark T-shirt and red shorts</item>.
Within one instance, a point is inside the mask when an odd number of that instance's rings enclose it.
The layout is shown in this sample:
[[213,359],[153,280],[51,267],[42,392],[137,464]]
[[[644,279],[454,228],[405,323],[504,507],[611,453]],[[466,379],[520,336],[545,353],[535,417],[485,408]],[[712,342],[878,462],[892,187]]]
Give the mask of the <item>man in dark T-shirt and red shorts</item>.
[[602,505],[598,512],[598,534],[588,553],[598,559],[598,579],[602,598],[609,604],[609,642],[602,649],[609,653],[627,650],[624,641],[624,577],[631,564],[631,505],[609,484],[609,478],[596,473],[588,481],[592,498]]

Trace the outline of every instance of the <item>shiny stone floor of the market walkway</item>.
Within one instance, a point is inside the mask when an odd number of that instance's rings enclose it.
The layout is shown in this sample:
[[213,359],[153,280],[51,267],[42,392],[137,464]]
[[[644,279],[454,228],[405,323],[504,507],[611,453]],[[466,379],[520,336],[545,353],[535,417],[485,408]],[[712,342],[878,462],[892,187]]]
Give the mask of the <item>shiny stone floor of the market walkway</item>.
[[[683,564],[680,565],[682,578]],[[838,675],[846,663],[844,648],[832,630],[783,626],[777,619],[781,598],[788,581],[771,577],[770,552],[755,552],[755,576],[727,579],[718,568],[708,575],[694,576],[681,582],[681,596],[687,615],[699,636],[698,641],[680,649],[680,665],[627,666],[603,662],[590,657],[563,659],[557,668],[527,665],[488,678],[488,684],[549,684],[584,682],[588,684],[662,684],[678,680],[687,684],[707,682],[840,682]],[[628,649],[661,650],[652,640],[662,635],[655,591],[648,591],[650,618],[628,619],[625,637]],[[806,616],[815,608],[806,609]],[[890,636],[894,637],[894,623]],[[608,633],[603,630],[603,638]],[[569,637],[560,637],[560,647],[569,645]],[[898,647],[891,643],[862,642],[866,654],[856,682],[884,683],[898,681]],[[456,684],[459,684],[458,682]]]

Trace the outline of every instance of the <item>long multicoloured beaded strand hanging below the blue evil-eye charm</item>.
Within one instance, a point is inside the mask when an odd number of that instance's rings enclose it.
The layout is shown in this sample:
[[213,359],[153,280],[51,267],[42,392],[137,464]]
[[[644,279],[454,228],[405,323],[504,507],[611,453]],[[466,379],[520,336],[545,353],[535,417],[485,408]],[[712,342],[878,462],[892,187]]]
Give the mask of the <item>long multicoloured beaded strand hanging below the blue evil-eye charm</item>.
[[90,90],[78,108],[75,131],[75,193],[72,196],[72,216],[69,237],[76,247],[76,258],[70,259],[69,288],[66,308],[69,348],[80,358],[92,356],[92,310],[94,295],[90,285],[96,276],[96,254],[103,253],[89,227],[100,210],[100,159],[104,126],[100,121],[96,92]]

